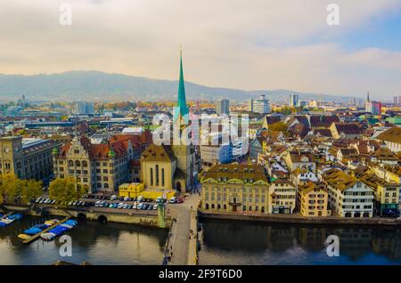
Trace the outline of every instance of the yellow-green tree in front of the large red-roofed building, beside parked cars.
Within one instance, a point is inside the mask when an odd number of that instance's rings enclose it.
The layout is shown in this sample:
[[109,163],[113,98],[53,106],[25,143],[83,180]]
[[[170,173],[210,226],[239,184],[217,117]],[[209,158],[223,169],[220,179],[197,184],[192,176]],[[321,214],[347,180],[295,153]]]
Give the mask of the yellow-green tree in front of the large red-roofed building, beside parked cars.
[[87,189],[86,185],[78,184],[74,177],[57,178],[50,184],[49,197],[61,204],[68,204],[70,201],[81,198],[86,194]]

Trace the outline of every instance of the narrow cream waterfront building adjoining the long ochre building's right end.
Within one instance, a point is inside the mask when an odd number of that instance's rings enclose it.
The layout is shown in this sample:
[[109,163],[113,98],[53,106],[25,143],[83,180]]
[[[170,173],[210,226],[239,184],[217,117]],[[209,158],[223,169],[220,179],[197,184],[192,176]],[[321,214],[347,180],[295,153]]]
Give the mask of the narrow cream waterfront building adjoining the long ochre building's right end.
[[271,180],[268,194],[269,214],[292,214],[297,205],[297,189],[288,179]]

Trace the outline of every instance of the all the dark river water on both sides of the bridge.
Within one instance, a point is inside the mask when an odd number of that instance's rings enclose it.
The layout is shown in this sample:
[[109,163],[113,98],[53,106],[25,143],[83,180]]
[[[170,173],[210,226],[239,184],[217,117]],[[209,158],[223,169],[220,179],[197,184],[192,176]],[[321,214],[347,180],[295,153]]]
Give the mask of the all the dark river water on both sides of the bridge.
[[[0,229],[0,264],[157,264],[168,230],[130,224],[80,221],[67,234],[72,257],[61,257],[58,240],[23,245],[17,235],[39,223],[26,217]],[[42,221],[43,222],[43,221]],[[401,264],[401,228],[304,227],[257,222],[202,221],[200,264]],[[340,238],[340,256],[329,257],[324,242]]]

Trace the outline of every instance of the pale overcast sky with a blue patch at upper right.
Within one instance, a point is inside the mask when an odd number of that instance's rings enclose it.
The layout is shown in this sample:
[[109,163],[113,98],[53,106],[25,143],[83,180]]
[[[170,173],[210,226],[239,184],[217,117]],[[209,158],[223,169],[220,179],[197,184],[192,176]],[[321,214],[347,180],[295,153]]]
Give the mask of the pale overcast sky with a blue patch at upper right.
[[201,85],[401,95],[400,0],[2,0],[0,19],[4,74],[177,79],[182,45],[185,80]]

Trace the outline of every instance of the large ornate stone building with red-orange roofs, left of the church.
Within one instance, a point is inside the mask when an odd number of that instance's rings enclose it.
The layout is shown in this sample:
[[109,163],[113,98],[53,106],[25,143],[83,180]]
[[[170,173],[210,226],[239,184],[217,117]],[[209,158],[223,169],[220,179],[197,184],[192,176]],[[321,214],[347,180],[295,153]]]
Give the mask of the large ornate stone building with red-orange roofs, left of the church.
[[76,136],[60,151],[53,150],[54,175],[72,176],[90,192],[113,193],[120,184],[132,181],[129,165],[140,157],[142,150],[143,143],[133,135],[116,135],[102,143]]

